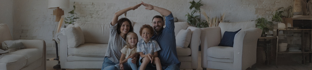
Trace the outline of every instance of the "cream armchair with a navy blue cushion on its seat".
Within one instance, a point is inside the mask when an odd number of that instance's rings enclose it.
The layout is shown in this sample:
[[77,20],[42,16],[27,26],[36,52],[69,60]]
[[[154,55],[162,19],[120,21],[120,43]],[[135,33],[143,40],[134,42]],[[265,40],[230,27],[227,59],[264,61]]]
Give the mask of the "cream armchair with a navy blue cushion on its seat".
[[[257,39],[262,30],[256,21],[220,23],[218,27],[201,28],[202,68],[222,70],[245,70],[256,63]],[[233,47],[218,46],[225,31],[241,29],[235,37]]]

